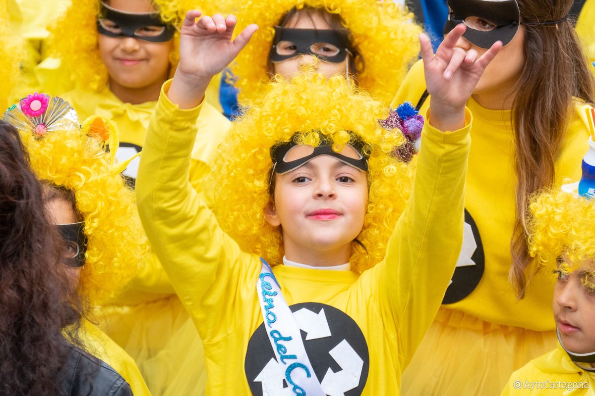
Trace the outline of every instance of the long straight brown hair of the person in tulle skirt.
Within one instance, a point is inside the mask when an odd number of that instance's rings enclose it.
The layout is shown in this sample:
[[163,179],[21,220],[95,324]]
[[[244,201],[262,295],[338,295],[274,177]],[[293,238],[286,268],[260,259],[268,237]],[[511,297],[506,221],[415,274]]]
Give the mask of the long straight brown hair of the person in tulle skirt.
[[518,4],[525,65],[512,105],[518,182],[509,280],[522,298],[533,275],[528,274],[529,197],[554,181],[554,164],[574,112],[573,97],[592,103],[594,83],[572,21],[566,19],[573,1],[518,0]]

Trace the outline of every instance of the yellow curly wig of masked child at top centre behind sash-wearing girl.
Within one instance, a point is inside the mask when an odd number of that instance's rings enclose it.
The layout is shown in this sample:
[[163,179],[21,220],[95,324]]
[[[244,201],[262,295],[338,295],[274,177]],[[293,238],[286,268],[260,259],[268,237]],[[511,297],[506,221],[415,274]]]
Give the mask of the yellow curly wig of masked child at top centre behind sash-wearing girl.
[[356,62],[358,84],[374,99],[389,103],[402,83],[409,65],[419,53],[418,34],[422,29],[413,15],[393,1],[378,0],[246,0],[237,5],[227,0],[222,9],[234,12],[236,33],[251,23],[258,24],[252,40],[240,52],[231,71],[238,77],[240,102],[252,101],[270,81],[268,53],[275,36],[274,26],[293,8],[322,8],[339,14],[351,32],[353,45],[364,59]]

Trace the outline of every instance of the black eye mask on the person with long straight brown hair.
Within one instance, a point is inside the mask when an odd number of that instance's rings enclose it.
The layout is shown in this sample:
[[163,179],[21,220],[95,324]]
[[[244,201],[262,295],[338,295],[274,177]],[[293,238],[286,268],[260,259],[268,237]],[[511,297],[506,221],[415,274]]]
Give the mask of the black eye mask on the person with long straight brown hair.
[[502,45],[510,43],[521,22],[516,0],[448,0],[447,4],[452,12],[444,25],[445,35],[468,17],[477,17],[496,25],[490,31],[467,27],[463,34],[469,43],[484,49],[490,48],[498,40]]

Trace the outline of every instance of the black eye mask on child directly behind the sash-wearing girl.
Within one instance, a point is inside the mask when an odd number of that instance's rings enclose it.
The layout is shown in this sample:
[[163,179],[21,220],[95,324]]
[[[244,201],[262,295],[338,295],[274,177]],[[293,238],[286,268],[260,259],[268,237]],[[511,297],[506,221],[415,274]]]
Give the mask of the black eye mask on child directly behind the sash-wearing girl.
[[[276,45],[282,41],[292,42],[297,48],[296,52],[291,55],[279,55],[277,53]],[[322,56],[312,52],[311,46],[317,43],[328,43],[336,46],[339,53],[334,56]],[[273,46],[268,54],[268,58],[273,62],[284,61],[291,59],[297,54],[314,55],[322,61],[331,63],[340,63],[345,61],[347,57],[347,31],[334,29],[296,29],[292,27],[275,26],[275,38],[273,39]]]

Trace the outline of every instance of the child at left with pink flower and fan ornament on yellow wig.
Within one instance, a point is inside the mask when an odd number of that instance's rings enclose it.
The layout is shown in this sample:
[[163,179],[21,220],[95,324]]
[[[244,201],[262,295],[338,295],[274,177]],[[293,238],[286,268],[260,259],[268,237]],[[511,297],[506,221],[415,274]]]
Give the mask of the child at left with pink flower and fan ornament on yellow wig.
[[[68,251],[73,292],[89,308],[109,302],[134,277],[147,249],[133,192],[115,161],[117,132],[101,118],[81,128],[67,102],[37,93],[11,106],[4,120],[20,131],[33,171],[48,184],[46,207],[52,217],[58,219],[55,204],[70,211],[71,221],[57,223],[74,243]],[[86,350],[120,373],[135,395],[149,395],[134,360],[93,324],[92,312],[84,314],[90,318],[81,326]]]

